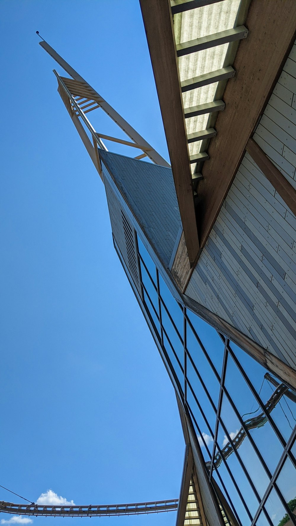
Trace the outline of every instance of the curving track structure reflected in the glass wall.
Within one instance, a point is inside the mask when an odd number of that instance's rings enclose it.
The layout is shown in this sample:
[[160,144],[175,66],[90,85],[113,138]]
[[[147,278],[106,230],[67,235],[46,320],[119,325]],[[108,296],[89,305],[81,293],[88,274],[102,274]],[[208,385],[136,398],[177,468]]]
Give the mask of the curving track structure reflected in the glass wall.
[[[287,387],[284,383],[279,383],[277,380],[275,380],[269,373],[266,373],[264,375],[264,379],[267,379],[269,382],[271,382],[274,386],[276,386],[276,389],[273,391],[271,397],[269,400],[264,404],[265,412],[270,413],[277,403],[280,401],[283,395],[286,395],[290,400],[293,402],[296,402],[296,396],[293,392]],[[258,414],[258,416],[249,418],[248,420],[244,421],[244,427],[241,427],[240,430],[236,433],[235,437],[232,439],[232,443],[229,441],[226,446],[224,446],[223,449],[221,449],[221,453],[218,452],[214,456],[214,466],[216,468],[219,468],[222,458],[226,459],[230,456],[230,454],[233,452],[234,448],[238,449],[246,437],[246,430],[254,429],[254,428],[260,428],[264,426],[264,424],[267,422],[267,416],[264,412]],[[211,462],[206,462],[206,467],[210,469]]]

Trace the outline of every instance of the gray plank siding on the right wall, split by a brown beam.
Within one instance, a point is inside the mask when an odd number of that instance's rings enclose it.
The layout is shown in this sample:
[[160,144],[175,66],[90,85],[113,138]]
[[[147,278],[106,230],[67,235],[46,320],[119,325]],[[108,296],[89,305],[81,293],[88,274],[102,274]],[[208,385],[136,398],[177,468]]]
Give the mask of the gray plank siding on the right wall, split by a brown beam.
[[[254,134],[296,188],[296,46]],[[296,369],[296,217],[249,154],[186,295]]]

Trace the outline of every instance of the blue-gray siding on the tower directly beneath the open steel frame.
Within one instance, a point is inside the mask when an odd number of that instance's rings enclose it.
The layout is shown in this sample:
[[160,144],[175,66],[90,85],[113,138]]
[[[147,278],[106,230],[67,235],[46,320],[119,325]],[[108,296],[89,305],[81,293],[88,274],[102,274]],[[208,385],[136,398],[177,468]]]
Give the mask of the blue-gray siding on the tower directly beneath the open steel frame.
[[182,225],[172,170],[102,150],[100,156],[156,254],[169,267]]

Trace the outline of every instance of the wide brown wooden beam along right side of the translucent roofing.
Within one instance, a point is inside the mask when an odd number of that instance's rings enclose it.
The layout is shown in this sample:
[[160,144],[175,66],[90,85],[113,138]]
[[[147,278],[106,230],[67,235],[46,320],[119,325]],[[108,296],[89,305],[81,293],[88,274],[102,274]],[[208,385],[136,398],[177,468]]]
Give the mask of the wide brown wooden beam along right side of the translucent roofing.
[[249,37],[241,41],[236,53],[236,75],[226,85],[225,110],[218,114],[217,137],[210,141],[210,160],[198,186],[199,255],[294,42],[296,2],[253,0],[245,26]]

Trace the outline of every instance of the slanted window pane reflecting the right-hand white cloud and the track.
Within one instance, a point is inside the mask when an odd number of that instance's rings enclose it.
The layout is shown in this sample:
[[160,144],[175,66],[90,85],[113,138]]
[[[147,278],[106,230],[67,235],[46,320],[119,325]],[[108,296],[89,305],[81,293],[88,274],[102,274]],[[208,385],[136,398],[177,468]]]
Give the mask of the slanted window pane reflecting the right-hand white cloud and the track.
[[[245,468],[248,470],[256,490],[262,498],[269,484],[268,474],[263,468],[262,463],[259,460],[259,457],[256,454],[248,436],[246,436],[243,428],[241,427],[241,423],[236,417],[236,414],[234,413],[225,393],[223,393],[220,417],[224,427],[230,435],[231,440],[233,441],[233,447],[236,447],[236,450],[238,451]],[[225,433],[223,434],[222,432],[218,434],[218,444],[220,448],[223,447],[226,450],[231,446]],[[230,454],[234,455],[233,450]]]

